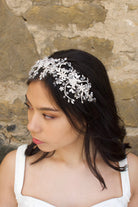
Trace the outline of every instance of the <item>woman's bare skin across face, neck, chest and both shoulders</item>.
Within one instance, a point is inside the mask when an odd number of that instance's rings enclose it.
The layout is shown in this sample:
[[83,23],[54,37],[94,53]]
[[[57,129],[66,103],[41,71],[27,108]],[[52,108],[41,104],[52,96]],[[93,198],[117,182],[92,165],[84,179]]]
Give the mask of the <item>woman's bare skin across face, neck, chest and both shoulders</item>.
[[[28,129],[41,141],[41,151],[56,150],[54,156],[31,165],[41,154],[27,157],[22,195],[32,196],[56,207],[90,207],[102,201],[121,197],[120,173],[107,166],[98,155],[97,167],[107,189],[90,172],[83,153],[84,136],[78,134],[67,117],[56,106],[42,81],[32,82],[26,94]],[[14,195],[16,151],[10,152],[0,165],[0,206],[17,207]],[[128,155],[131,201],[138,203],[138,158]],[[6,179],[5,179],[6,178]],[[33,185],[32,185],[33,183]],[[64,195],[64,196],[63,196]]]

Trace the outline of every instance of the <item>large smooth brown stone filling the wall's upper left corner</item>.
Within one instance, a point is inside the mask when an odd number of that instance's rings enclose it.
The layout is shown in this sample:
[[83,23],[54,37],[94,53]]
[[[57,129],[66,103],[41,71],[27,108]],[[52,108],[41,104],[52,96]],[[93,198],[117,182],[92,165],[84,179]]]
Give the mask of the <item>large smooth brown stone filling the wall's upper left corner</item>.
[[35,42],[21,17],[0,1],[0,80],[25,81],[38,58]]

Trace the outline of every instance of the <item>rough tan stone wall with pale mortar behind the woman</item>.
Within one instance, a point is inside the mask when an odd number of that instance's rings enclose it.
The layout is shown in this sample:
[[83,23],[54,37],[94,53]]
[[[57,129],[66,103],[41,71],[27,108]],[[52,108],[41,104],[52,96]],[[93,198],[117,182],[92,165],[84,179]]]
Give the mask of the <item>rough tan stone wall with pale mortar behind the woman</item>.
[[126,139],[138,154],[137,14],[135,0],[0,1],[0,156],[30,140],[24,108],[30,66],[69,48],[106,65]]

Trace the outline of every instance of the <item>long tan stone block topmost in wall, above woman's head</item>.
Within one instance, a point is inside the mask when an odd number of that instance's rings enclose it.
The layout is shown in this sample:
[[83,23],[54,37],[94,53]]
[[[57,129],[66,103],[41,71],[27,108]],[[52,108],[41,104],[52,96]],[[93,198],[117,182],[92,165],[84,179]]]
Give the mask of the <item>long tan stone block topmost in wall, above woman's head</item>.
[[[88,15],[89,14],[89,15]],[[24,14],[28,24],[41,25],[43,28],[55,30],[57,26],[68,27],[75,24],[79,29],[91,27],[94,22],[104,22],[106,10],[98,4],[78,3],[70,7],[47,5],[33,6]]]

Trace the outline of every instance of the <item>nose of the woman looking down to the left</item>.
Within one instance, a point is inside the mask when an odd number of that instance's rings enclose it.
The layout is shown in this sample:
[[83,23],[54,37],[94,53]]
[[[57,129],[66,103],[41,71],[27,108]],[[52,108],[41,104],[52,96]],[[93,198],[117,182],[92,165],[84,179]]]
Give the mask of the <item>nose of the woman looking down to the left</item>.
[[28,116],[27,128],[32,133],[39,133],[41,131],[41,124],[37,115],[33,115],[31,117]]

